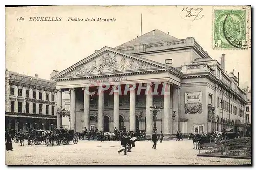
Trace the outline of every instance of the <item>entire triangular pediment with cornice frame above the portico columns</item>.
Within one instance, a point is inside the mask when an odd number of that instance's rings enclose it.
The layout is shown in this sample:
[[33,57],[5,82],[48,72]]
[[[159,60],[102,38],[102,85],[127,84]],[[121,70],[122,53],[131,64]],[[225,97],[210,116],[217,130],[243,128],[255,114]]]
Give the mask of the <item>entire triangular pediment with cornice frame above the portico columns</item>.
[[119,52],[113,48],[104,47],[91,56],[60,72],[52,79],[161,68],[170,67],[142,57]]

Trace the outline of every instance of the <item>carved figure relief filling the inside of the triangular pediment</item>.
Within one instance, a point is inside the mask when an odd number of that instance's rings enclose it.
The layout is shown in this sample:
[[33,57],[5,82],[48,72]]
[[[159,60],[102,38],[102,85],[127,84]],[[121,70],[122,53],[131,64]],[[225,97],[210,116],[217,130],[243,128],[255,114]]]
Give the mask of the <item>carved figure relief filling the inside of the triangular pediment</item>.
[[140,70],[153,68],[147,63],[134,61],[133,59],[122,57],[113,53],[106,53],[95,60],[72,71],[70,76],[84,76],[89,74],[99,74],[102,72],[116,72],[128,70]]

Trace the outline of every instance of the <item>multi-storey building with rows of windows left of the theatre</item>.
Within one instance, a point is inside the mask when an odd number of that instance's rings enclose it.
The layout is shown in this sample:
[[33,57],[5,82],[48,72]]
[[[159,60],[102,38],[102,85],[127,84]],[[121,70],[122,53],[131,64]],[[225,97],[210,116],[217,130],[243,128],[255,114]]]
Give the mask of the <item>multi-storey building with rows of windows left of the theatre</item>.
[[5,128],[52,130],[56,119],[56,82],[5,71]]

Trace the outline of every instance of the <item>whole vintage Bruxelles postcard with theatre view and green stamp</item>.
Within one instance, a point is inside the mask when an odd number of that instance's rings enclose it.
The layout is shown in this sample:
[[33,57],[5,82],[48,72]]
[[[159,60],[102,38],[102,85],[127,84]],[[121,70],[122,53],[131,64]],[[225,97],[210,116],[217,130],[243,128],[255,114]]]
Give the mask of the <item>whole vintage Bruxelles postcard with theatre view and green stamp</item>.
[[6,165],[251,165],[251,6],[5,8]]

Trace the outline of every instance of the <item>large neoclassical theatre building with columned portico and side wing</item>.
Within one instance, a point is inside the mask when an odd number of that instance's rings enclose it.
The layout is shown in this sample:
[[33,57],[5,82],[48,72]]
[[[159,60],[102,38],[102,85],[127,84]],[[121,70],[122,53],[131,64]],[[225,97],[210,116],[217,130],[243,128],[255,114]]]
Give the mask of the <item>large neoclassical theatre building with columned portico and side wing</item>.
[[[95,50],[66,70],[55,71],[52,79],[57,83],[58,108],[65,108],[62,93],[69,92],[68,126],[78,132],[84,127],[113,131],[126,126],[128,131],[139,127],[152,134],[152,105],[162,106],[156,127],[167,137],[177,131],[245,128],[246,93],[238,86],[239,78],[234,71],[226,74],[225,55],[219,63],[193,37],[177,39],[155,29],[115,48]],[[136,88],[127,94],[111,93],[132,83]],[[97,93],[101,84],[110,88]],[[163,88],[170,95],[153,93]],[[96,94],[86,93],[87,89]],[[58,126],[60,118],[57,115]]]

